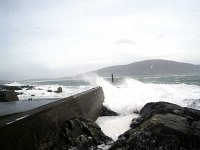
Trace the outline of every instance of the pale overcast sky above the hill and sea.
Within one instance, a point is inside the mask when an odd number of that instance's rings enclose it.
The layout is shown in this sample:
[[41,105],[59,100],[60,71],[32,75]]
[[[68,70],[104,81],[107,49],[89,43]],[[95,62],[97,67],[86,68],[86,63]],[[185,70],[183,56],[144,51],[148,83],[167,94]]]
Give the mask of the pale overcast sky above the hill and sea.
[[0,80],[145,59],[200,64],[199,0],[0,0]]

